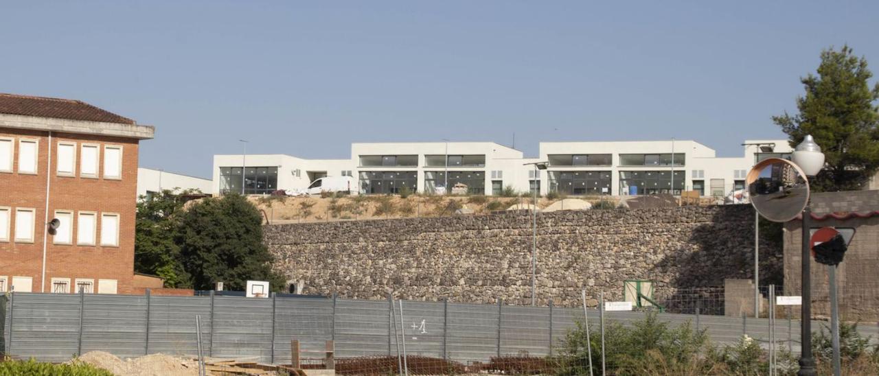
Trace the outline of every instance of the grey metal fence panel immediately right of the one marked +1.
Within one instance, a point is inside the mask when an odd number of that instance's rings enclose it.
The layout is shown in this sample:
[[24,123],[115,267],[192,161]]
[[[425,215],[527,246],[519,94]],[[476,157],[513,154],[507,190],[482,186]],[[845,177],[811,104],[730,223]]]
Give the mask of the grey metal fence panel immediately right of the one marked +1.
[[487,362],[498,355],[498,306],[448,304],[448,358]]

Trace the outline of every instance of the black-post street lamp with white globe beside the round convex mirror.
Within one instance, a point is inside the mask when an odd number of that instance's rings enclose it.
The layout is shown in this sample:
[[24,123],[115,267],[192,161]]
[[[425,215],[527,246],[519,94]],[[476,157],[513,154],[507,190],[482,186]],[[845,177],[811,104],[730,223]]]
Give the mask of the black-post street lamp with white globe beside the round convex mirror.
[[[806,138],[803,139],[799,145],[796,146],[793,155],[791,155],[791,160],[797,166],[800,166],[800,169],[806,174],[807,177],[814,177],[821,171],[821,168],[824,167],[825,155],[821,153],[821,147],[815,143],[815,139],[812,138],[811,134],[806,135]],[[814,375],[815,373],[815,359],[812,358],[812,322],[811,322],[811,304],[812,304],[812,294],[811,294],[811,271],[810,271],[810,263],[811,263],[811,254],[810,254],[810,225],[809,222],[811,220],[811,209],[809,207],[809,202],[806,202],[806,206],[803,208],[803,271],[802,271],[802,284],[803,284],[803,313],[800,317],[800,321],[802,323],[801,334],[803,336],[802,341],[802,351],[800,355],[800,371],[797,372],[798,375]]]

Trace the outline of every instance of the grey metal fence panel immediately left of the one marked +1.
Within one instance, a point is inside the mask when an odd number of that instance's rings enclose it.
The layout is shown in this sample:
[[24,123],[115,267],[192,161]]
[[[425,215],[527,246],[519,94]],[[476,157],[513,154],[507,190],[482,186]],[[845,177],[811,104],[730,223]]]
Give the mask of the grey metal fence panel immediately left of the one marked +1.
[[389,307],[387,300],[336,300],[337,356],[389,355]]

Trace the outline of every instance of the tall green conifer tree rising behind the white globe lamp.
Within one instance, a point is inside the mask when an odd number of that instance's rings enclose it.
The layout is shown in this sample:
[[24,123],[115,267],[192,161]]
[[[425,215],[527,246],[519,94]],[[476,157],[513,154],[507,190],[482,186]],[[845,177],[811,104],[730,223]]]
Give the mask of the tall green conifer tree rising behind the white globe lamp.
[[773,121],[792,146],[806,134],[821,146],[825,169],[810,182],[813,189],[859,190],[879,168],[879,83],[870,87],[867,60],[848,46],[822,51],[817,75],[800,79],[806,94],[796,98],[799,113],[786,112]]

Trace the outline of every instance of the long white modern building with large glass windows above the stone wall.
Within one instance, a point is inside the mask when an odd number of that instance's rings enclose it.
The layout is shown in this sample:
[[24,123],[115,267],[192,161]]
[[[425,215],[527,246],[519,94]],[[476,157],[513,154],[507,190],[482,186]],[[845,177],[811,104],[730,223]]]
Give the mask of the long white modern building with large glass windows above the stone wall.
[[[354,143],[347,159],[214,155],[211,192],[301,190],[320,177],[351,176],[362,194],[435,192],[465,184],[473,194],[517,192],[642,195],[698,191],[725,196],[759,160],[788,156],[787,140],[745,141],[740,157],[717,157],[696,141],[541,142],[540,155],[494,142]],[[528,163],[548,162],[546,170]],[[242,186],[244,189],[242,190]],[[673,187],[673,188],[672,188]]]

